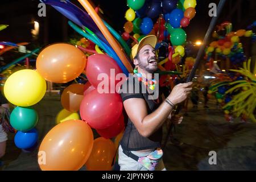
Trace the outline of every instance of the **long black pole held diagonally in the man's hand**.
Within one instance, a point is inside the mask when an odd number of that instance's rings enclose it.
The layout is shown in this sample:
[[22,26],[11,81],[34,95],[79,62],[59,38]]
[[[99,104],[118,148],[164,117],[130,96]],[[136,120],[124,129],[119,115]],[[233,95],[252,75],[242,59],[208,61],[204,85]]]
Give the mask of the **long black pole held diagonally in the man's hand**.
[[[186,82],[192,81],[192,78],[196,74],[196,69],[199,67],[199,64],[200,64],[200,61],[201,61],[201,57],[203,56],[203,53],[204,53],[204,49],[207,46],[207,42],[208,42],[208,40],[210,38],[210,35],[212,35],[212,31],[213,31],[214,27],[216,26],[217,19],[218,19],[218,17],[221,14],[221,11],[222,11],[222,9],[223,9],[223,7],[225,5],[225,2],[226,2],[226,0],[220,0],[220,3],[218,3],[218,7],[217,7],[217,10],[216,10],[217,11],[217,13],[216,13],[217,15],[213,16],[212,20],[210,21],[210,25],[208,27],[208,30],[207,30],[205,36],[204,36],[203,44],[201,45],[201,47],[199,49],[199,52],[197,53],[195,64],[193,65],[191,73],[189,74]],[[175,111],[175,114],[179,114],[180,109],[181,109],[181,105],[178,105],[177,109]],[[170,129],[168,130],[168,133],[167,133],[167,136],[166,136],[166,139],[164,140],[163,148],[166,147],[169,135],[171,133],[171,130],[174,127],[175,127],[174,124],[171,123]]]

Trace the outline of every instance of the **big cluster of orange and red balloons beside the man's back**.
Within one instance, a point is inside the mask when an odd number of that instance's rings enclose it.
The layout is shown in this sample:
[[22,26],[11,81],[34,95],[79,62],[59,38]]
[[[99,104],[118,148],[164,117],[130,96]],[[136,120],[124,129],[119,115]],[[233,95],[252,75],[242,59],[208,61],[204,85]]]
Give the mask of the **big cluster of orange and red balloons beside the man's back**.
[[[79,48],[62,43],[44,48],[38,55],[36,67],[46,80],[52,82],[69,82],[82,72],[86,72],[88,78],[85,85],[71,84],[61,94],[61,105],[64,109],[57,114],[57,125],[40,144],[39,152],[47,152],[47,164],[40,164],[40,168],[77,170],[86,162],[88,170],[111,169],[110,160],[114,158],[115,147],[109,138],[116,137],[125,127],[123,106],[118,93],[100,93],[99,90],[110,90],[110,85],[114,88],[117,86],[115,77],[122,73],[118,64],[112,57],[102,53],[90,55],[86,59]],[[102,81],[98,80],[98,75],[101,73],[108,78],[107,88],[100,87]],[[106,139],[99,138],[93,142],[91,127]],[[73,141],[72,144],[69,141]],[[63,144],[59,146],[60,142]],[[72,150],[76,152],[72,153]],[[64,158],[72,159],[72,163],[69,160],[64,162]],[[108,160],[100,160],[105,158]],[[97,166],[94,165],[96,163]]]

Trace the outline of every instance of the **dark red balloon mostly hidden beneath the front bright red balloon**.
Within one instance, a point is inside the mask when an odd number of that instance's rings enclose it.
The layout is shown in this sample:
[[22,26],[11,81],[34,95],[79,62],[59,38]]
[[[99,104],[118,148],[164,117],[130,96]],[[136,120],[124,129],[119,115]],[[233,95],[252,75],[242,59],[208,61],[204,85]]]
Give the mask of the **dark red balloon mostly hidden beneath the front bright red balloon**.
[[113,138],[117,136],[125,128],[125,122],[123,121],[123,114],[117,119],[117,121],[106,129],[96,130],[101,137],[104,138]]

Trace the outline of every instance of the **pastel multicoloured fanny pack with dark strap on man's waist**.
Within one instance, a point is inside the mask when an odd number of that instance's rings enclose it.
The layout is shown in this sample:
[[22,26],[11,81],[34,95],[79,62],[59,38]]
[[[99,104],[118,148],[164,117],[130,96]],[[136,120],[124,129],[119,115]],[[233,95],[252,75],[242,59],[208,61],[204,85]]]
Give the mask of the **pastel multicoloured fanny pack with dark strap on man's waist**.
[[147,168],[149,171],[155,171],[156,165],[159,163],[160,159],[162,159],[163,151],[161,149],[158,149],[158,150],[152,151],[150,154],[144,157],[139,157],[131,153],[131,151],[126,151],[126,150],[123,150],[123,154],[129,156],[129,158],[136,160],[138,163],[142,164],[142,166]]

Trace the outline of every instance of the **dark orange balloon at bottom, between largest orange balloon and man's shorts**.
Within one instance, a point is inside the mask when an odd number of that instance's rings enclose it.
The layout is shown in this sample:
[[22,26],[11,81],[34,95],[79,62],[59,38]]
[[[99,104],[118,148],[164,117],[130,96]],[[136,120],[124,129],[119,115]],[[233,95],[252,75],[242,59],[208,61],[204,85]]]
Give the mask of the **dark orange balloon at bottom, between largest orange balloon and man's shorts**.
[[115,156],[115,146],[112,140],[103,137],[93,142],[93,150],[85,163],[89,171],[110,171]]

